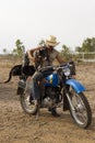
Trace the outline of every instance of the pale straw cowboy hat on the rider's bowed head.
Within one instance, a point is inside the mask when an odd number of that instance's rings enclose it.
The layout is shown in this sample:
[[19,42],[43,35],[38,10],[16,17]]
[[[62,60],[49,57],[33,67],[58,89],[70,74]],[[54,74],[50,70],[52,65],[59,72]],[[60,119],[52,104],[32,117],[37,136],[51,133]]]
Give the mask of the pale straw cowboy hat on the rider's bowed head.
[[50,35],[46,41],[45,41],[46,45],[48,46],[57,46],[59,44],[59,42],[57,42],[57,37],[54,35]]

